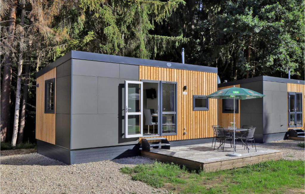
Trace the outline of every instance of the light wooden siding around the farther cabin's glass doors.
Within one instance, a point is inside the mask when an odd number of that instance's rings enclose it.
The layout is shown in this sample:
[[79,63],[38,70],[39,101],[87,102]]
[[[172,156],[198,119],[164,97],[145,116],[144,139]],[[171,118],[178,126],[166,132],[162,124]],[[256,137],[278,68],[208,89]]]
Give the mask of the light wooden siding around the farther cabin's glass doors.
[[288,127],[288,123],[289,123],[289,114],[287,114],[288,116],[287,116],[287,128],[288,128],[288,130],[289,129],[303,129],[303,130],[305,130],[305,128],[304,128],[304,120],[305,120],[305,114],[304,114],[304,110],[305,110],[305,94],[304,94],[304,92],[305,92],[305,85],[303,85],[303,84],[291,84],[291,83],[287,83],[287,113],[288,113],[288,106],[289,106],[289,104],[288,104],[288,92],[301,92],[302,93],[302,112],[303,112],[303,126],[302,127],[294,127],[294,128],[289,128]]

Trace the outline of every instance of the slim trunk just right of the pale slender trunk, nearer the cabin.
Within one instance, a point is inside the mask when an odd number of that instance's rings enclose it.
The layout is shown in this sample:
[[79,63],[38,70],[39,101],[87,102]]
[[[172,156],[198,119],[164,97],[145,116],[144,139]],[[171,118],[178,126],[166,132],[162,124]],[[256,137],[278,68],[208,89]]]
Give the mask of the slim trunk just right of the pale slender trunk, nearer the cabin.
[[23,99],[22,99],[21,115],[20,115],[20,129],[19,129],[19,134],[18,134],[18,139],[17,139],[18,144],[23,142],[27,98],[29,95],[29,83],[30,83],[30,64],[27,63],[24,66],[24,82],[23,82],[23,95],[22,95]]

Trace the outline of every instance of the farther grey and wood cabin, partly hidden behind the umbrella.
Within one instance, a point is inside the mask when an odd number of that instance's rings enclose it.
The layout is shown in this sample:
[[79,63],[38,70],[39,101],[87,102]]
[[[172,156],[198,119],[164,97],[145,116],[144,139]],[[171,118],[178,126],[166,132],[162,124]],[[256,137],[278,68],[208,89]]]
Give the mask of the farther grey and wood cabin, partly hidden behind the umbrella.
[[228,126],[235,122],[256,127],[255,141],[282,140],[289,129],[304,130],[304,81],[260,76],[218,84],[218,90],[233,87],[247,88],[264,94],[260,99],[218,100],[218,124]]

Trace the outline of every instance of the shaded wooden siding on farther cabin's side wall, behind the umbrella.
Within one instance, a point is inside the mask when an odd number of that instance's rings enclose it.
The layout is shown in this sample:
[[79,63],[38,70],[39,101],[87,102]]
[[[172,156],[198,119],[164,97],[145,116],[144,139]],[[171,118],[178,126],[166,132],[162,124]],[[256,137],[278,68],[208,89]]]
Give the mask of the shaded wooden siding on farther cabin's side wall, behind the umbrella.
[[[233,86],[220,87],[218,90],[222,90],[225,88],[231,88]],[[240,88],[240,84],[235,85],[235,87]],[[238,106],[238,113],[235,113],[235,125],[237,128],[240,128],[240,100]],[[226,128],[230,125],[230,122],[233,122],[234,114],[233,113],[222,113],[222,100],[218,99],[218,124]]]

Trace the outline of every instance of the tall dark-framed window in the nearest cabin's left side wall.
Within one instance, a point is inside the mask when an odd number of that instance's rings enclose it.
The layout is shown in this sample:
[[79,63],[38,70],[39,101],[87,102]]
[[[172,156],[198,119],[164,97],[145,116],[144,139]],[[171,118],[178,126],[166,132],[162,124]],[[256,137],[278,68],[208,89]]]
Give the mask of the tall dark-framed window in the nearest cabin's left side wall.
[[45,113],[54,113],[55,78],[45,81]]

